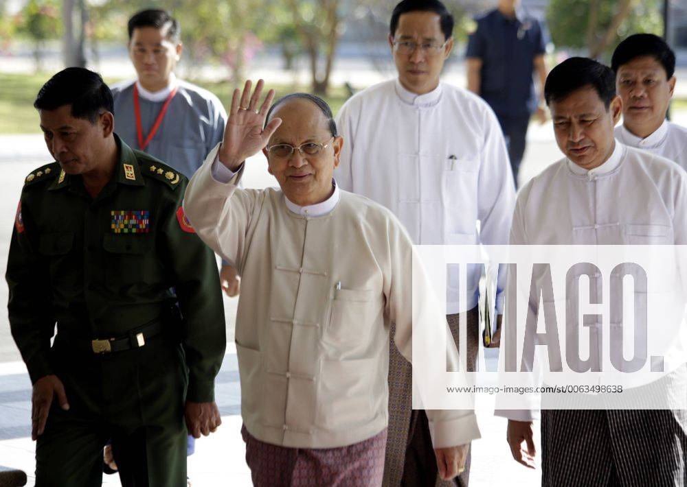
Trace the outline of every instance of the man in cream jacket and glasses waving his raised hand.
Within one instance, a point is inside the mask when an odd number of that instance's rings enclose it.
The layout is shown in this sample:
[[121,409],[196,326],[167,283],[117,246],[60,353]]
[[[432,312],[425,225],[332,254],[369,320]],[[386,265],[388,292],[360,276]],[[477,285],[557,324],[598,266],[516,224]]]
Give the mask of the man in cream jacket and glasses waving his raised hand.
[[[445,337],[446,322],[412,305],[426,302],[412,294],[430,285],[412,285],[412,242],[396,217],[333,180],[343,139],[327,104],[296,93],[268,111],[274,92],[258,108],[261,91],[262,80],[252,96],[251,82],[234,92],[223,143],[184,202],[196,232],[243,276],[236,348],[246,459],[260,486],[380,485],[390,324],[409,360],[412,327]],[[260,150],[280,189],[239,189],[245,160]],[[451,367],[457,358],[449,355]],[[474,412],[429,418],[450,479],[479,436]]]

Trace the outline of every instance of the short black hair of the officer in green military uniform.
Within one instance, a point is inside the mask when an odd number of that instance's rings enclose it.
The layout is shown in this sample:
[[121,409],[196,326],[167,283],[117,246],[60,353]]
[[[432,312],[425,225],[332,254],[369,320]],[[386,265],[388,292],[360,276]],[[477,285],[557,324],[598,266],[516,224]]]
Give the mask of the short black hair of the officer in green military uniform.
[[72,117],[91,123],[103,111],[115,111],[110,88],[98,73],[85,68],[63,69],[47,80],[34,102],[37,110],[56,110],[65,105],[71,105]]

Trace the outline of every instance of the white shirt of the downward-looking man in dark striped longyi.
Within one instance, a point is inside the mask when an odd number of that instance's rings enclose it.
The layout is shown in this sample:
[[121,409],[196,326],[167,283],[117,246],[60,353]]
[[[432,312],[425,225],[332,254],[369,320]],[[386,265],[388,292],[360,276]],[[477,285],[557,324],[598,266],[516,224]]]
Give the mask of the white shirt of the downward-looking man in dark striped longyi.
[[[617,140],[611,156],[595,169],[565,158],[518,193],[510,244],[687,244],[687,173],[666,158]],[[601,296],[601,279],[591,280]],[[599,318],[585,326],[600,333],[602,323]],[[514,420],[536,416],[526,409],[496,414]]]

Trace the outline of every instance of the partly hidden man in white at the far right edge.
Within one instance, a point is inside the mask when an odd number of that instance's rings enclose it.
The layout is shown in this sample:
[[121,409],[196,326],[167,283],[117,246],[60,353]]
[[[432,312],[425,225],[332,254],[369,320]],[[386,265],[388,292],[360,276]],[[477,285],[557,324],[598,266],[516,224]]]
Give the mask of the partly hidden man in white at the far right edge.
[[622,98],[616,139],[687,169],[687,128],[666,120],[675,90],[675,53],[654,34],[634,34],[613,52],[611,68]]

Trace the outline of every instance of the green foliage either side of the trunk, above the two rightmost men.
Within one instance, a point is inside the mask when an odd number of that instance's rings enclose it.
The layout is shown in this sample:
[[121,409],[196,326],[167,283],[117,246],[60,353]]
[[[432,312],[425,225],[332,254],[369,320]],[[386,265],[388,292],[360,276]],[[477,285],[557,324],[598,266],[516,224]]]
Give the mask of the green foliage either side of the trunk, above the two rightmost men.
[[[592,0],[550,0],[547,12],[549,31],[554,45],[559,48],[591,50],[589,38],[589,15]],[[598,16],[594,29],[593,42],[605,36],[611,25],[613,15],[618,11],[620,0],[596,0]],[[605,55],[615,49],[621,40],[636,32],[662,32],[662,0],[641,0],[633,4],[629,16],[619,25]]]

